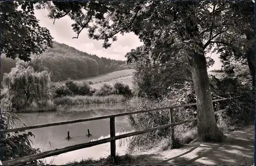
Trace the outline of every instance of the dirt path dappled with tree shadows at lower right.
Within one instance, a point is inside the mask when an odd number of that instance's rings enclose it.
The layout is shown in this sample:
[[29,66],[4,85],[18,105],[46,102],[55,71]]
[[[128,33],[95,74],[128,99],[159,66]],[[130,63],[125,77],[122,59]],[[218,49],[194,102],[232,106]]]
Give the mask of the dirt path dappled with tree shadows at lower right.
[[225,135],[226,141],[219,144],[194,142],[181,149],[142,152],[143,157],[138,157],[138,162],[161,165],[253,165],[254,126]]

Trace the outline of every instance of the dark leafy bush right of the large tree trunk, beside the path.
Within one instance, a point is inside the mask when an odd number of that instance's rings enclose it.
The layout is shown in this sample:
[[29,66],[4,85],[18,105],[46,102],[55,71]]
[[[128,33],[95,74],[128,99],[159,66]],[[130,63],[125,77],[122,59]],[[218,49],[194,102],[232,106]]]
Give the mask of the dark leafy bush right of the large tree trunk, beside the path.
[[247,125],[254,120],[254,93],[248,86],[243,85],[239,78],[224,77],[218,79],[212,77],[210,86],[213,99],[241,96],[231,100],[214,102],[216,110],[228,109],[228,112],[217,115],[218,120],[225,120],[228,126]]

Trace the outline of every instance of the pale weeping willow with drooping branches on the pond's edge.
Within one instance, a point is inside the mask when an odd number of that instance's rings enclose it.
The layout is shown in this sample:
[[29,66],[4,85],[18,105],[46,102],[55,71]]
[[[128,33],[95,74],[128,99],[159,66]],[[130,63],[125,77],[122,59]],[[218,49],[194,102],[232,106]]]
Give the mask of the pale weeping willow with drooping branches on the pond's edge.
[[24,109],[32,104],[37,107],[46,106],[52,98],[49,91],[50,74],[47,71],[35,72],[33,67],[22,63],[18,61],[10,73],[4,74],[7,98],[16,109]]

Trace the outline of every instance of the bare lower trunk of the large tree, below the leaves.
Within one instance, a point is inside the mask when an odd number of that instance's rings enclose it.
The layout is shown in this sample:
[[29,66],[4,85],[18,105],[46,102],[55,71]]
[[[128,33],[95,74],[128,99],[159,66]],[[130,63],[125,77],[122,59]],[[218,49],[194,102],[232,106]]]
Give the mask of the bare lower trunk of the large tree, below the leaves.
[[195,52],[192,56],[191,73],[197,97],[198,134],[203,141],[220,142],[223,140],[223,133],[216,124],[203,53]]

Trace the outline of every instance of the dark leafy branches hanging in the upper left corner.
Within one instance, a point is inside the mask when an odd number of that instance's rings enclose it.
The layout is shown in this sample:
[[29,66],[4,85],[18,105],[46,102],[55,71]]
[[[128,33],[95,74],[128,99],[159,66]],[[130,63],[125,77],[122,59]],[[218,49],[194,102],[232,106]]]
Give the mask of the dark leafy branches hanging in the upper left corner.
[[49,30],[39,26],[34,16],[35,3],[9,1],[0,4],[0,48],[6,57],[30,61],[31,54],[40,54],[52,46]]

